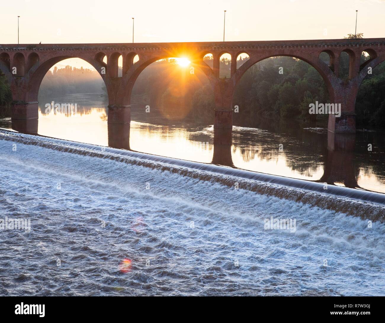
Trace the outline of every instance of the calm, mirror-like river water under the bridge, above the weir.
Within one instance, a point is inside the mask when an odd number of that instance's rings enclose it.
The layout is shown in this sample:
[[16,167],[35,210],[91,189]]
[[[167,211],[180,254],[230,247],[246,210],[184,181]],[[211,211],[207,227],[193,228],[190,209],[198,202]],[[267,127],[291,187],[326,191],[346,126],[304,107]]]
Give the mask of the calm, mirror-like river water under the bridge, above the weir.
[[[195,162],[242,168],[330,185],[385,192],[384,137],[358,132],[336,135],[323,128],[297,126],[274,129],[233,127],[214,130],[194,120],[169,121],[132,107],[131,124],[107,124],[107,109],[89,98],[75,114],[46,113],[37,120],[0,120],[0,127],[76,142],[110,146]],[[56,99],[55,102],[71,102]],[[87,105],[88,104],[88,105]],[[278,127],[278,128],[277,128]],[[368,143],[373,151],[369,152]]]

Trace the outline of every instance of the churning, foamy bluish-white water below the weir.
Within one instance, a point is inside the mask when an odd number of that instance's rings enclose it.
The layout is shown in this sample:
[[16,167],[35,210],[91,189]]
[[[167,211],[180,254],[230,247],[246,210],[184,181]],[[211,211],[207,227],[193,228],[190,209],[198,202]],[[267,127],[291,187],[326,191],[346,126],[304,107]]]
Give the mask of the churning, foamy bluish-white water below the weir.
[[34,141],[0,135],[0,219],[31,223],[0,231],[0,295],[385,295],[365,214]]

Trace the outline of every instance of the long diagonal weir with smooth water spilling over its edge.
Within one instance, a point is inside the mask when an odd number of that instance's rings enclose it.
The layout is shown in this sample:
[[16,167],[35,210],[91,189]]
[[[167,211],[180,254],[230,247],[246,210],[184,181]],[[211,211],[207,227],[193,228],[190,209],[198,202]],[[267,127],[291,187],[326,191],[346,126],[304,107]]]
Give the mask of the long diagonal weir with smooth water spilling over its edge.
[[[121,125],[118,125],[118,128],[115,128],[115,126],[116,125],[109,126],[109,138],[110,132],[112,133],[111,142],[114,142],[115,134],[121,135],[119,132],[124,131],[122,130]],[[347,137],[351,138],[351,136]],[[63,152],[109,158],[118,162],[126,162],[133,165],[170,171],[182,176],[219,182],[223,185],[230,186],[232,189],[235,189],[234,185],[235,183],[238,183],[239,189],[256,191],[260,194],[268,194],[279,198],[286,198],[288,200],[301,201],[303,203],[341,211],[350,215],[365,215],[365,218],[373,221],[385,221],[385,195],[381,193],[335,185],[326,185],[325,188],[325,183],[122,150],[121,148],[123,147],[102,147],[50,137],[16,133],[3,129],[0,130],[0,139],[19,141],[24,144],[39,145],[41,147]],[[228,139],[228,132],[226,132],[224,137],[221,138],[219,136],[216,138],[216,143],[219,143],[218,151],[220,153],[215,155],[213,161],[215,159],[220,165],[225,165],[226,163],[229,164],[231,145],[229,145]],[[333,140],[335,140],[335,138]],[[330,142],[330,145],[333,145],[332,142],[334,141],[330,139]],[[114,143],[119,144],[119,142]],[[127,146],[127,139],[122,140],[120,143]],[[222,148],[224,148],[224,150]],[[216,150],[215,147],[214,150]],[[340,160],[341,158],[331,159],[335,162],[335,160]],[[325,170],[327,171],[331,168],[333,168],[333,165],[325,167]],[[326,173],[325,176],[327,178],[333,178],[335,175],[329,172]],[[329,182],[332,180],[333,179],[329,180]]]

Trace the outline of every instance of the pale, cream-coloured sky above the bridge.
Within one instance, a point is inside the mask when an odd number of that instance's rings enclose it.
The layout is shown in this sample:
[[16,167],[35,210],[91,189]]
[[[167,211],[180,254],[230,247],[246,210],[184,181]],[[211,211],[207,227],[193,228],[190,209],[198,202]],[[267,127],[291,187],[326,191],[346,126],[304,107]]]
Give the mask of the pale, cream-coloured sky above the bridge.
[[385,0],[2,1],[0,43],[210,42],[385,37]]

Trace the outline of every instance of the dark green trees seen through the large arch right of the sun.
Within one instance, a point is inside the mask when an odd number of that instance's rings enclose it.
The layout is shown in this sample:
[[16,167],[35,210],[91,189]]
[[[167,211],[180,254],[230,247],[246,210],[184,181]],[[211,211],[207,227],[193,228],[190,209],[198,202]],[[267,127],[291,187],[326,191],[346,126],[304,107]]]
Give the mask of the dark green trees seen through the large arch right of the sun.
[[[281,72],[281,73],[280,73]],[[234,92],[239,106],[234,120],[282,118],[310,120],[309,103],[327,102],[328,93],[320,74],[307,63],[292,57],[268,58],[243,75]]]

